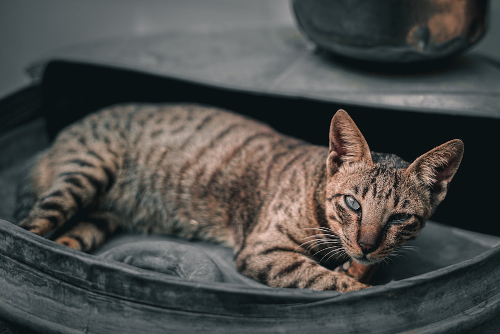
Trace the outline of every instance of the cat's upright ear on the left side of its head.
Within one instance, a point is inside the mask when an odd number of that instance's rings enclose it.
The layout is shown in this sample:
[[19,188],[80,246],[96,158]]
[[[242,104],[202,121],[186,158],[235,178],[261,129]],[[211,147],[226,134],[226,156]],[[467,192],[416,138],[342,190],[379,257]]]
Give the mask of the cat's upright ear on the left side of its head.
[[330,123],[330,150],[326,159],[328,175],[344,162],[364,160],[372,163],[366,140],[344,110],[338,110]]

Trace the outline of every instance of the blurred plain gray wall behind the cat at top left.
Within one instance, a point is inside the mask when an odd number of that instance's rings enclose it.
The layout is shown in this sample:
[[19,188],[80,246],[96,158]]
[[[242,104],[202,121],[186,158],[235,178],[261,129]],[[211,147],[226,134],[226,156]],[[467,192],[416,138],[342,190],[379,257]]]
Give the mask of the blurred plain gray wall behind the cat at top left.
[[0,98],[51,50],[170,29],[293,24],[288,0],[0,0]]

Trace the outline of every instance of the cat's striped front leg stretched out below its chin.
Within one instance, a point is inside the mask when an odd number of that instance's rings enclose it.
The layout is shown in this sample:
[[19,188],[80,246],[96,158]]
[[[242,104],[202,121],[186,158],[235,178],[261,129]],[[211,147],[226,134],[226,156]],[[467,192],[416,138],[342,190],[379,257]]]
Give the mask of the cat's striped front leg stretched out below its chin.
[[311,288],[316,290],[355,291],[369,285],[329,270],[291,244],[247,243],[236,254],[237,269],[246,276],[273,287]]

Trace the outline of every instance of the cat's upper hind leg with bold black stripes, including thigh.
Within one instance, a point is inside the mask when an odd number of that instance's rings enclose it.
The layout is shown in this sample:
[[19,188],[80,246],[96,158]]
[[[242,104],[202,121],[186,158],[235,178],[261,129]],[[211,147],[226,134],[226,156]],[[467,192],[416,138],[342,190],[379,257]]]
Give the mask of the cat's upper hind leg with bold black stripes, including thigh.
[[44,235],[61,227],[88,207],[112,184],[118,156],[108,148],[52,148],[43,154],[28,176],[37,200],[18,225]]

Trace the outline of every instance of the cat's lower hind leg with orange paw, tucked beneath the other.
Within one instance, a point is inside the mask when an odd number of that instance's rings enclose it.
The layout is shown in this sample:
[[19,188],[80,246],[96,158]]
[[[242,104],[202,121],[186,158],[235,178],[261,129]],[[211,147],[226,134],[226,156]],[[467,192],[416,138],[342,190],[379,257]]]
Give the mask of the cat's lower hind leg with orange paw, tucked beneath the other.
[[55,239],[61,245],[89,252],[106,241],[119,226],[119,218],[109,211],[92,211]]

